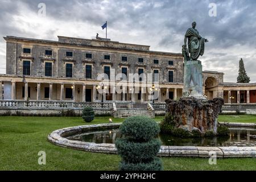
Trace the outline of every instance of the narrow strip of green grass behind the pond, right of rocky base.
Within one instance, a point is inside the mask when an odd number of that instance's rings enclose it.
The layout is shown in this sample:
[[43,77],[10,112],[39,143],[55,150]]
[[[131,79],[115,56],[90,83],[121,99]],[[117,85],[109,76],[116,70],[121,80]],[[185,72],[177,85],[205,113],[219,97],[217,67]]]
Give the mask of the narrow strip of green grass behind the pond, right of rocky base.
[[219,122],[256,123],[256,115],[220,115]]

